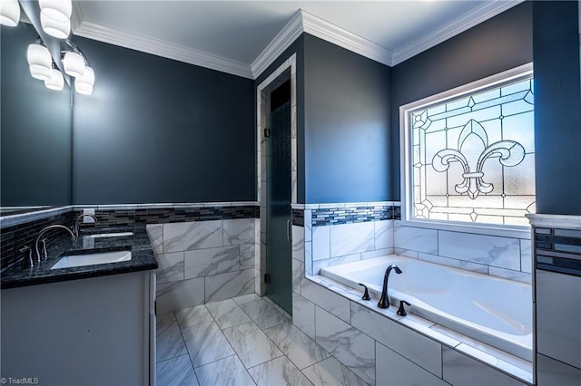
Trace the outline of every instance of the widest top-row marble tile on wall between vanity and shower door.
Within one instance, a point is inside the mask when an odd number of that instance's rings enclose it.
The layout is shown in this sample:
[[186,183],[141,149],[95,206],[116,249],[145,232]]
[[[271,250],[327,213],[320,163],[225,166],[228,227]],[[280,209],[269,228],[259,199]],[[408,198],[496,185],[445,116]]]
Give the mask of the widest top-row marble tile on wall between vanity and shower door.
[[163,252],[222,246],[222,220],[163,224]]

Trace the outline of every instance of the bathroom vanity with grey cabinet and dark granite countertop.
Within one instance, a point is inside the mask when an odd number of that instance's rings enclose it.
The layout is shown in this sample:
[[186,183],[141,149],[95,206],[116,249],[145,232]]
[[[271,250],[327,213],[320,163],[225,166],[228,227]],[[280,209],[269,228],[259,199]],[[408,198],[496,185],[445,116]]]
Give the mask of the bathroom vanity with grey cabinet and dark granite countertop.
[[[47,261],[3,273],[3,378],[154,384],[157,262],[144,227],[130,233],[82,235],[76,248],[64,237]],[[112,249],[130,250],[131,259],[51,269],[63,255]]]

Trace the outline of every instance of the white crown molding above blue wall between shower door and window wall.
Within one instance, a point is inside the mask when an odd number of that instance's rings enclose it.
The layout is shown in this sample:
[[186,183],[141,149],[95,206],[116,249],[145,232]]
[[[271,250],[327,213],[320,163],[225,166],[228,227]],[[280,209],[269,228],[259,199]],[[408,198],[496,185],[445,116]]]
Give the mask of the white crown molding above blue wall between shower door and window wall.
[[373,61],[391,65],[393,53],[388,48],[373,43],[358,34],[350,33],[338,25],[321,19],[314,14],[300,10],[302,28],[307,34],[312,34],[329,43],[339,45],[353,53],[365,56]]

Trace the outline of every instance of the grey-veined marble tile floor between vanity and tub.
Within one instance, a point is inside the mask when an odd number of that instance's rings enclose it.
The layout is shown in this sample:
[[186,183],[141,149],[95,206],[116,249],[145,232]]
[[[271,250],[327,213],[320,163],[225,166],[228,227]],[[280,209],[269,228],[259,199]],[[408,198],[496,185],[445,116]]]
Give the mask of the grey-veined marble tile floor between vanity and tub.
[[249,294],[158,315],[157,385],[366,384],[265,299]]

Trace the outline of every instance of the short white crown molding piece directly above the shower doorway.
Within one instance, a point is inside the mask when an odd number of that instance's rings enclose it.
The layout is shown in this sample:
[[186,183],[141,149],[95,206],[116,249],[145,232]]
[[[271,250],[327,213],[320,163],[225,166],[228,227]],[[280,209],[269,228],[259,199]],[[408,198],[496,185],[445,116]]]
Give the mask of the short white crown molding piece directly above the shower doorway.
[[254,79],[258,79],[261,73],[281,56],[281,53],[289,48],[302,32],[302,14],[298,11],[252,62],[251,68]]

